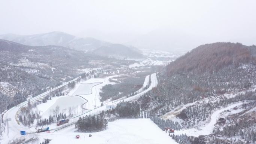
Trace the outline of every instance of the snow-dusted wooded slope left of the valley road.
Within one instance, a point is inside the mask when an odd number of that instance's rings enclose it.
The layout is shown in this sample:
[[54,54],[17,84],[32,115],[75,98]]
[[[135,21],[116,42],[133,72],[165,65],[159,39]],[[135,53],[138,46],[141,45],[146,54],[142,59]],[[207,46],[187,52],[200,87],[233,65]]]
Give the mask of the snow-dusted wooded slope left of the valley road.
[[[99,61],[98,64],[92,63]],[[41,94],[80,76],[79,69],[134,63],[63,46],[28,46],[0,39],[0,113],[28,96]]]

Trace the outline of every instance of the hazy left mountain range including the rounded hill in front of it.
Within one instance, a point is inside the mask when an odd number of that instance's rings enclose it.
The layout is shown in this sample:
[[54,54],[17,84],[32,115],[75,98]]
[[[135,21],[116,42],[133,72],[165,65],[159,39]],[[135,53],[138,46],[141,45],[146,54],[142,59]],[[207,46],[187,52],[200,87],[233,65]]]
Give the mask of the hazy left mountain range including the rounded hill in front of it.
[[10,40],[30,46],[63,46],[78,51],[93,52],[96,55],[117,59],[145,59],[145,56],[141,54],[141,51],[135,47],[112,44],[91,37],[76,37],[71,34],[58,31],[28,36],[4,34],[0,35],[0,39]]

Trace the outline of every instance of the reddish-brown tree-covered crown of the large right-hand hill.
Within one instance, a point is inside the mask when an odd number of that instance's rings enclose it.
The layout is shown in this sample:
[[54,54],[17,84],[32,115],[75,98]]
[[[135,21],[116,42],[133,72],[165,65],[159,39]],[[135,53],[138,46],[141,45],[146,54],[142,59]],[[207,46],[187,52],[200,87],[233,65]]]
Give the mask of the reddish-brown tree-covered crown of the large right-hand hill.
[[198,46],[166,67],[171,73],[213,73],[220,69],[239,64],[256,64],[256,46],[241,43],[212,43]]

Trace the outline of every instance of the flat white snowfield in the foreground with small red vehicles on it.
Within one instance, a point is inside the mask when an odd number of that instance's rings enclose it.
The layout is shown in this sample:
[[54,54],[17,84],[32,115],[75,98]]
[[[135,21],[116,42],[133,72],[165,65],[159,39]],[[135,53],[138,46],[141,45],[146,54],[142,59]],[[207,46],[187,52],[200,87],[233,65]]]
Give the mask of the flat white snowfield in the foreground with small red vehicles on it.
[[[44,132],[40,138],[52,139],[51,144],[177,144],[150,119],[120,119],[109,122],[101,132],[79,133],[70,127],[60,132]],[[76,135],[80,135],[76,139]],[[92,134],[92,137],[89,137]]]

